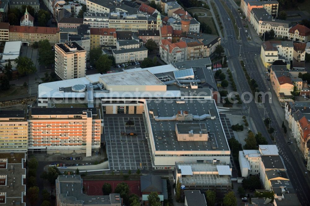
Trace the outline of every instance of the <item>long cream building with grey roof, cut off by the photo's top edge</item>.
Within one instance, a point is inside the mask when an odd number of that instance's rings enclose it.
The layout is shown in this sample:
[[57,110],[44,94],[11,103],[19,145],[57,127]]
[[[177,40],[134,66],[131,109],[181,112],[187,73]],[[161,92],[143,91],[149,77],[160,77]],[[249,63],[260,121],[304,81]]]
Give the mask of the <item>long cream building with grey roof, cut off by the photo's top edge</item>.
[[124,3],[119,3],[113,0],[86,0],[88,12],[111,13],[111,12],[126,12],[129,14],[137,14],[139,7],[127,6]]

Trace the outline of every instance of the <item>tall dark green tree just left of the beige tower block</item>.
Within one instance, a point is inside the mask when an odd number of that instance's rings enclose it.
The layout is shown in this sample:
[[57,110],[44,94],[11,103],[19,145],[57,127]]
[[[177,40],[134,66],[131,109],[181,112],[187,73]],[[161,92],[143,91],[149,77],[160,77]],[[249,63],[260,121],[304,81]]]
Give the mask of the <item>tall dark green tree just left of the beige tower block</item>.
[[55,53],[51,49],[51,44],[47,39],[40,40],[38,42],[38,52],[39,52],[38,61],[40,65],[46,67],[55,63]]

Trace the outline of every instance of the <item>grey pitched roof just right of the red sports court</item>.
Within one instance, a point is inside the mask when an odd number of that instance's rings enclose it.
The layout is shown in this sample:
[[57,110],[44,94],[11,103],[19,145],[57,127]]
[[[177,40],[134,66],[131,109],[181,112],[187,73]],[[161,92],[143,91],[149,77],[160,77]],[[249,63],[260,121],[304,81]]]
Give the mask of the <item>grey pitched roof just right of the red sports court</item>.
[[156,175],[143,175],[140,178],[141,192],[162,192],[162,179]]

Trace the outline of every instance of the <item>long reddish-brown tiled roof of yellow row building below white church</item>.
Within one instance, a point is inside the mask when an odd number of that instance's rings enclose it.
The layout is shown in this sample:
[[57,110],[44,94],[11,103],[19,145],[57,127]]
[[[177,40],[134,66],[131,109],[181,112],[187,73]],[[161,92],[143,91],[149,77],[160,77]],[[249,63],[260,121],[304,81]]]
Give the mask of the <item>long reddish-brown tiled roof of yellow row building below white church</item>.
[[59,28],[56,28],[56,27],[10,26],[9,32],[56,34],[59,32]]

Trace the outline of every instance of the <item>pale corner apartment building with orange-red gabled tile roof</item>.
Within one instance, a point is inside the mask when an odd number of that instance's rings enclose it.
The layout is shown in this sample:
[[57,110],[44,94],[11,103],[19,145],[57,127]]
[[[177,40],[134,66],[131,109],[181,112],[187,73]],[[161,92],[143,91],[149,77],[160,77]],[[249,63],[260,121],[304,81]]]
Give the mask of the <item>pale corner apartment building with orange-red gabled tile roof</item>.
[[184,41],[176,43],[171,43],[169,39],[159,41],[159,55],[167,64],[188,60],[187,52],[187,45]]

